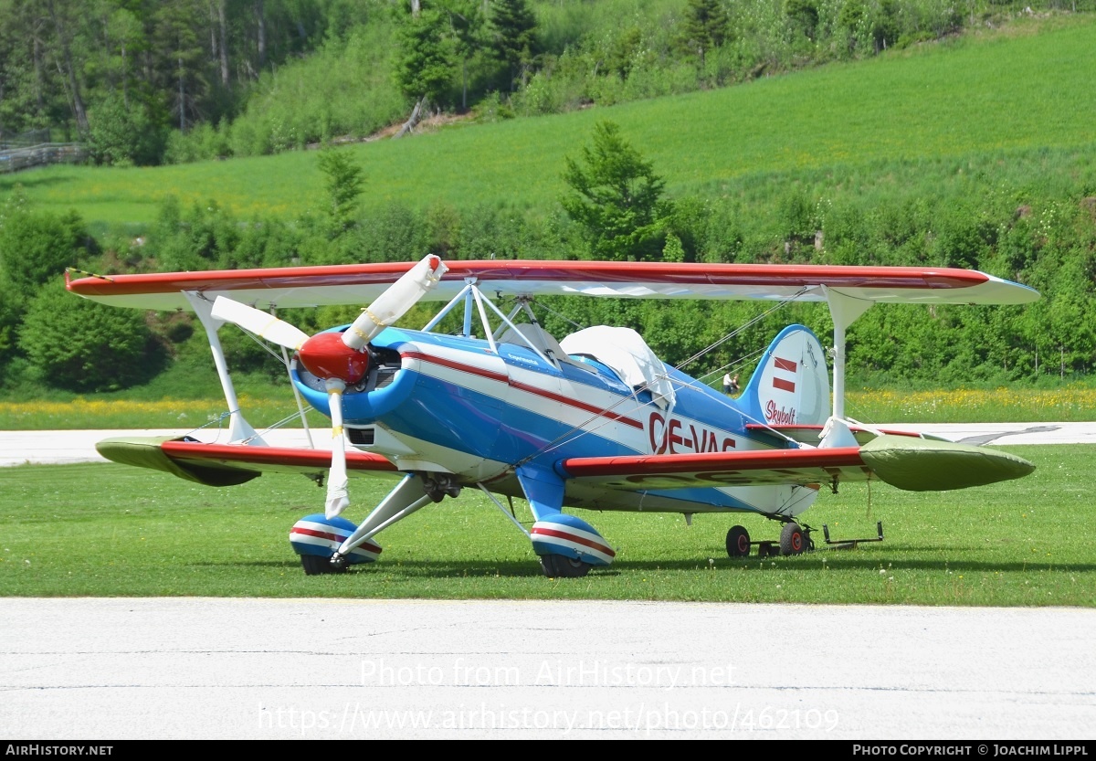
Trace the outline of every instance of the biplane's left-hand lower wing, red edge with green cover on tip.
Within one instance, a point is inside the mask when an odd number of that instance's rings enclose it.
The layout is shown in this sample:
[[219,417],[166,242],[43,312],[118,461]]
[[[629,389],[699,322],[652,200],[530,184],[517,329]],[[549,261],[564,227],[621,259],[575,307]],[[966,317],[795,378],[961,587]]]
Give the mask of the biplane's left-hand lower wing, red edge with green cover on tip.
[[[115,463],[163,470],[206,486],[233,486],[271,473],[300,473],[321,478],[331,467],[331,452],[289,446],[205,444],[189,436],[104,439],[95,444],[101,455]],[[347,475],[392,474],[386,458],[366,452],[346,453]]]

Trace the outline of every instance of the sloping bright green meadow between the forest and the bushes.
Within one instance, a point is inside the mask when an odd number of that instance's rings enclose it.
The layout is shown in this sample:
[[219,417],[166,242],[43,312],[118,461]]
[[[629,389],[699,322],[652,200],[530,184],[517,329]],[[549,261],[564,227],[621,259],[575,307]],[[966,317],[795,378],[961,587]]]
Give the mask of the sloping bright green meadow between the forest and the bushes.
[[[1076,171],[1096,150],[1096,100],[1087,96],[1094,33],[1091,16],[1020,21],[741,87],[349,150],[365,171],[366,212],[393,202],[555,207],[564,157],[576,156],[600,120],[621,125],[673,195],[721,194],[731,182],[749,193],[792,172],[834,171],[857,184],[856,168],[889,175],[895,168],[888,162],[905,162],[902,171],[916,174],[926,169],[918,162],[990,157],[1000,163],[994,171],[1007,171],[1025,151],[1037,151],[1036,161],[1069,151],[1072,158],[1054,160]],[[962,173],[961,164],[951,170]],[[309,151],[161,168],[54,167],[0,177],[0,195],[15,183],[42,207],[76,208],[102,224],[148,224],[168,195],[187,205],[214,200],[244,217],[292,218],[317,211],[324,193]]]

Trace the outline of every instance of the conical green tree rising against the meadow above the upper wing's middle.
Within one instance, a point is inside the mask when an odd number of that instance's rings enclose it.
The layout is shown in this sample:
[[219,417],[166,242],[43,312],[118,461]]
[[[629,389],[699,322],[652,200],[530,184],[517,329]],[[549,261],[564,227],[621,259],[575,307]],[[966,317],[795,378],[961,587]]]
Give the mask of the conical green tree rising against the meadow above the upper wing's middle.
[[571,192],[560,203],[585,229],[594,257],[658,258],[673,207],[661,197],[665,182],[620,136],[620,127],[598,122],[593,146],[582,149],[582,163],[570,157],[566,162],[563,180]]

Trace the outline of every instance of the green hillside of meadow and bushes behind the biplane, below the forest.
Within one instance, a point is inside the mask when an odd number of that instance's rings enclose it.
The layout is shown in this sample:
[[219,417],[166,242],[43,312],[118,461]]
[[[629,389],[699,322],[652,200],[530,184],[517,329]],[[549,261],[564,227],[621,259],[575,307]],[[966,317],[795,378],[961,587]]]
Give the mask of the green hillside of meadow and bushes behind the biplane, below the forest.
[[[80,311],[92,307],[73,303],[52,274],[66,265],[112,274],[408,260],[427,251],[978,269],[1030,285],[1042,299],[1028,308],[870,310],[849,333],[850,377],[906,387],[1085,382],[1096,367],[1093,39],[1096,16],[1031,18],[733,88],[454,122],[332,152],[5,175],[0,394],[125,389],[161,368],[170,377],[191,377],[181,368],[208,375],[202,331],[184,316],[132,315],[113,332],[95,332],[116,316]],[[606,133],[608,123],[665,181],[659,203],[666,214],[632,249],[602,247],[597,229],[561,203],[567,160],[584,160],[598,135],[617,134]],[[324,156],[362,170],[363,195],[338,213]],[[791,305],[749,334],[735,330],[757,314],[753,304],[551,306],[559,314],[543,318],[549,330],[625,325],[671,364],[703,354],[688,368],[696,376],[738,367],[790,322],[830,330],[817,305]],[[353,314],[292,319],[316,330]],[[233,368],[277,376],[253,343],[236,333],[225,341]],[[716,344],[720,355],[704,353]],[[104,350],[124,345],[125,357]],[[201,393],[193,380],[169,380],[158,377],[145,393]]]

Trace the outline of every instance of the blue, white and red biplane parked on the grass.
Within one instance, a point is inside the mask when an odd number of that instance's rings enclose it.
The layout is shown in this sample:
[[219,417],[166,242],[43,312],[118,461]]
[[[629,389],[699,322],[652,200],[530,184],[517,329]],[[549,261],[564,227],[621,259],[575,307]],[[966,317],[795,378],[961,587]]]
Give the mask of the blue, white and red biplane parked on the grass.
[[[778,552],[794,555],[813,548],[798,516],[823,488],[878,480],[949,490],[1034,469],[1001,450],[881,431],[845,414],[845,332],[872,305],[1039,297],[977,271],[427,255],[418,263],[89,276],[68,289],[197,316],[230,413],[228,443],[121,438],[98,448],[118,463],[210,486],[266,470],[326,480],[323,512],[289,533],[309,575],[377,560],[380,532],[465,489],[487,495],[556,578],[584,576],[616,556],[574,509],[683,513],[687,521],[695,513],[763,516],[780,524]],[[804,326],[785,328],[730,398],[662,362],[631,329],[550,334],[533,307],[558,295],[824,302],[832,345]],[[422,329],[399,325],[424,300],[444,306]],[[353,323],[313,336],[276,316],[331,304],[369,306]],[[331,419],[330,452],[266,445],[237,401],[218,338],[226,325],[282,348],[301,418],[307,402]],[[361,523],[341,514],[352,476],[395,481]],[[527,502],[532,525],[500,501],[513,508],[514,498]],[[775,554],[777,543],[754,542],[741,525],[728,531],[731,557],[754,545]]]

